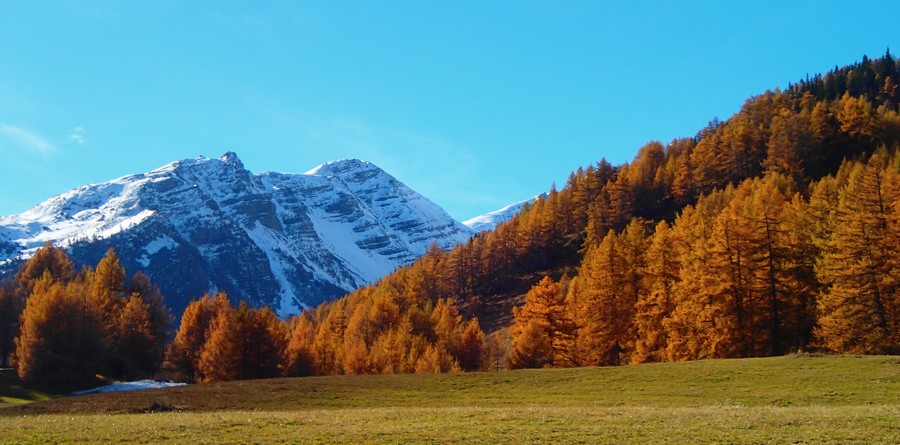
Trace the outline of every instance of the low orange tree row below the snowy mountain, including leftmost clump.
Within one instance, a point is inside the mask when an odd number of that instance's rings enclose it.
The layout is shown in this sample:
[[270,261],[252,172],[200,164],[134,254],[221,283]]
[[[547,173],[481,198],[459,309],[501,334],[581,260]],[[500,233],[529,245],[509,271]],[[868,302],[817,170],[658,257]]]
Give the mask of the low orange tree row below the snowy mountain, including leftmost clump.
[[220,292],[192,301],[173,337],[159,289],[141,272],[127,277],[115,251],[75,272],[47,244],[0,285],[0,358],[27,385],[54,390],[160,372],[212,382],[486,369],[478,321],[419,297],[378,292],[282,320]]

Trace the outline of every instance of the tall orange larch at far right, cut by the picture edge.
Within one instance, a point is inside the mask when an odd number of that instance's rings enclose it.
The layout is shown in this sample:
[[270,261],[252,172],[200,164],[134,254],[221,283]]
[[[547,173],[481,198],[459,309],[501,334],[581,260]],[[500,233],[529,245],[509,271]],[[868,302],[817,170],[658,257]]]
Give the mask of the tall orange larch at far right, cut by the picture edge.
[[819,268],[818,336],[843,353],[887,353],[900,346],[897,238],[891,218],[900,194],[894,167],[875,154],[840,190],[836,224]]

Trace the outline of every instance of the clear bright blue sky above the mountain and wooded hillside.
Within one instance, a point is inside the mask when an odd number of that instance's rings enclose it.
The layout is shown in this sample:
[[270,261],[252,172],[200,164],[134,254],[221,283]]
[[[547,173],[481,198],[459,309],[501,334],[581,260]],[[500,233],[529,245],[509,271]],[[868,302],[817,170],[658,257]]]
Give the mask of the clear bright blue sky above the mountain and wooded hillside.
[[235,151],[360,158],[457,219],[900,54],[894,1],[0,0],[0,215]]

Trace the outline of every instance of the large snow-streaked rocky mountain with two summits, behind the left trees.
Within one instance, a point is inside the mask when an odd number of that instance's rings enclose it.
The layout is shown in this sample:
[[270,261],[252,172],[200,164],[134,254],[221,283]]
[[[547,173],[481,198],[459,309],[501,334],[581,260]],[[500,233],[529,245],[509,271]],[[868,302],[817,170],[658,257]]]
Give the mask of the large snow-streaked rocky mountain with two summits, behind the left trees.
[[371,163],[253,174],[229,152],[79,187],[0,218],[0,270],[15,271],[47,241],[77,264],[96,264],[112,247],[176,314],[225,291],[286,316],[378,280],[431,243],[448,249],[471,235]]

